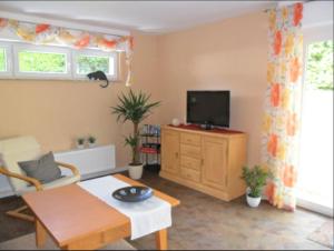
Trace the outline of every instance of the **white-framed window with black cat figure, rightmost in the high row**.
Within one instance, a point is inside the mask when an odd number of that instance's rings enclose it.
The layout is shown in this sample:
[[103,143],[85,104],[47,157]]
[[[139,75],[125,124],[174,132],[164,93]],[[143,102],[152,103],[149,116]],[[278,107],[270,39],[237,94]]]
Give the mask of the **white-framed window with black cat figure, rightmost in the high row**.
[[73,51],[73,77],[86,78],[94,71],[104,71],[108,78],[117,79],[117,53],[94,50]]

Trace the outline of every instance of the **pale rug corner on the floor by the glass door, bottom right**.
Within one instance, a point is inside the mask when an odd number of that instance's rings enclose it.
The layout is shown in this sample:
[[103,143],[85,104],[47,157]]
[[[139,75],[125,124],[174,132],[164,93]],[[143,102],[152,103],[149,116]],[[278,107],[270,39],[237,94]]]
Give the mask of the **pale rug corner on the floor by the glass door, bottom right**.
[[308,239],[333,249],[334,248],[333,235],[334,233],[333,233],[333,220],[332,220],[323,223],[317,230],[315,230],[313,233],[310,234]]

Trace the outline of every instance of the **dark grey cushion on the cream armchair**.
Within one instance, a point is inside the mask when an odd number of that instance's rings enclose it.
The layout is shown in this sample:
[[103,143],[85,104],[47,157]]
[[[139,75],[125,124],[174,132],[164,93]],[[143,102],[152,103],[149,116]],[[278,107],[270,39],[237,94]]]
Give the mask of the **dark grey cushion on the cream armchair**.
[[52,152],[42,155],[38,160],[18,162],[28,177],[39,180],[41,183],[49,183],[61,177],[61,171],[55,162]]

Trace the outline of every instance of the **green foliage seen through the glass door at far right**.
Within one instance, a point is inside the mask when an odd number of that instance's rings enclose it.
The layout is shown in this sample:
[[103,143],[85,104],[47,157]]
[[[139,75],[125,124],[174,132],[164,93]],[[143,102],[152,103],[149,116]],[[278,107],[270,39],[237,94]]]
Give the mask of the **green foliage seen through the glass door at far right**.
[[307,49],[307,87],[333,90],[333,40],[312,43]]

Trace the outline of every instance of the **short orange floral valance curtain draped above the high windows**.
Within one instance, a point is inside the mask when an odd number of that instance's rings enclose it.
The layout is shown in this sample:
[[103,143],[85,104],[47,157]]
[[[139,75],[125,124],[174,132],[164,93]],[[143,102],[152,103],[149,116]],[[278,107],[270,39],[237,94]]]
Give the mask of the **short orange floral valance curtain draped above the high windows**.
[[14,34],[17,39],[35,44],[60,44],[75,49],[96,48],[104,51],[125,51],[128,67],[127,86],[130,83],[134,50],[134,38],[130,36],[118,37],[55,27],[48,23],[30,23],[0,18],[0,31],[4,29]]

